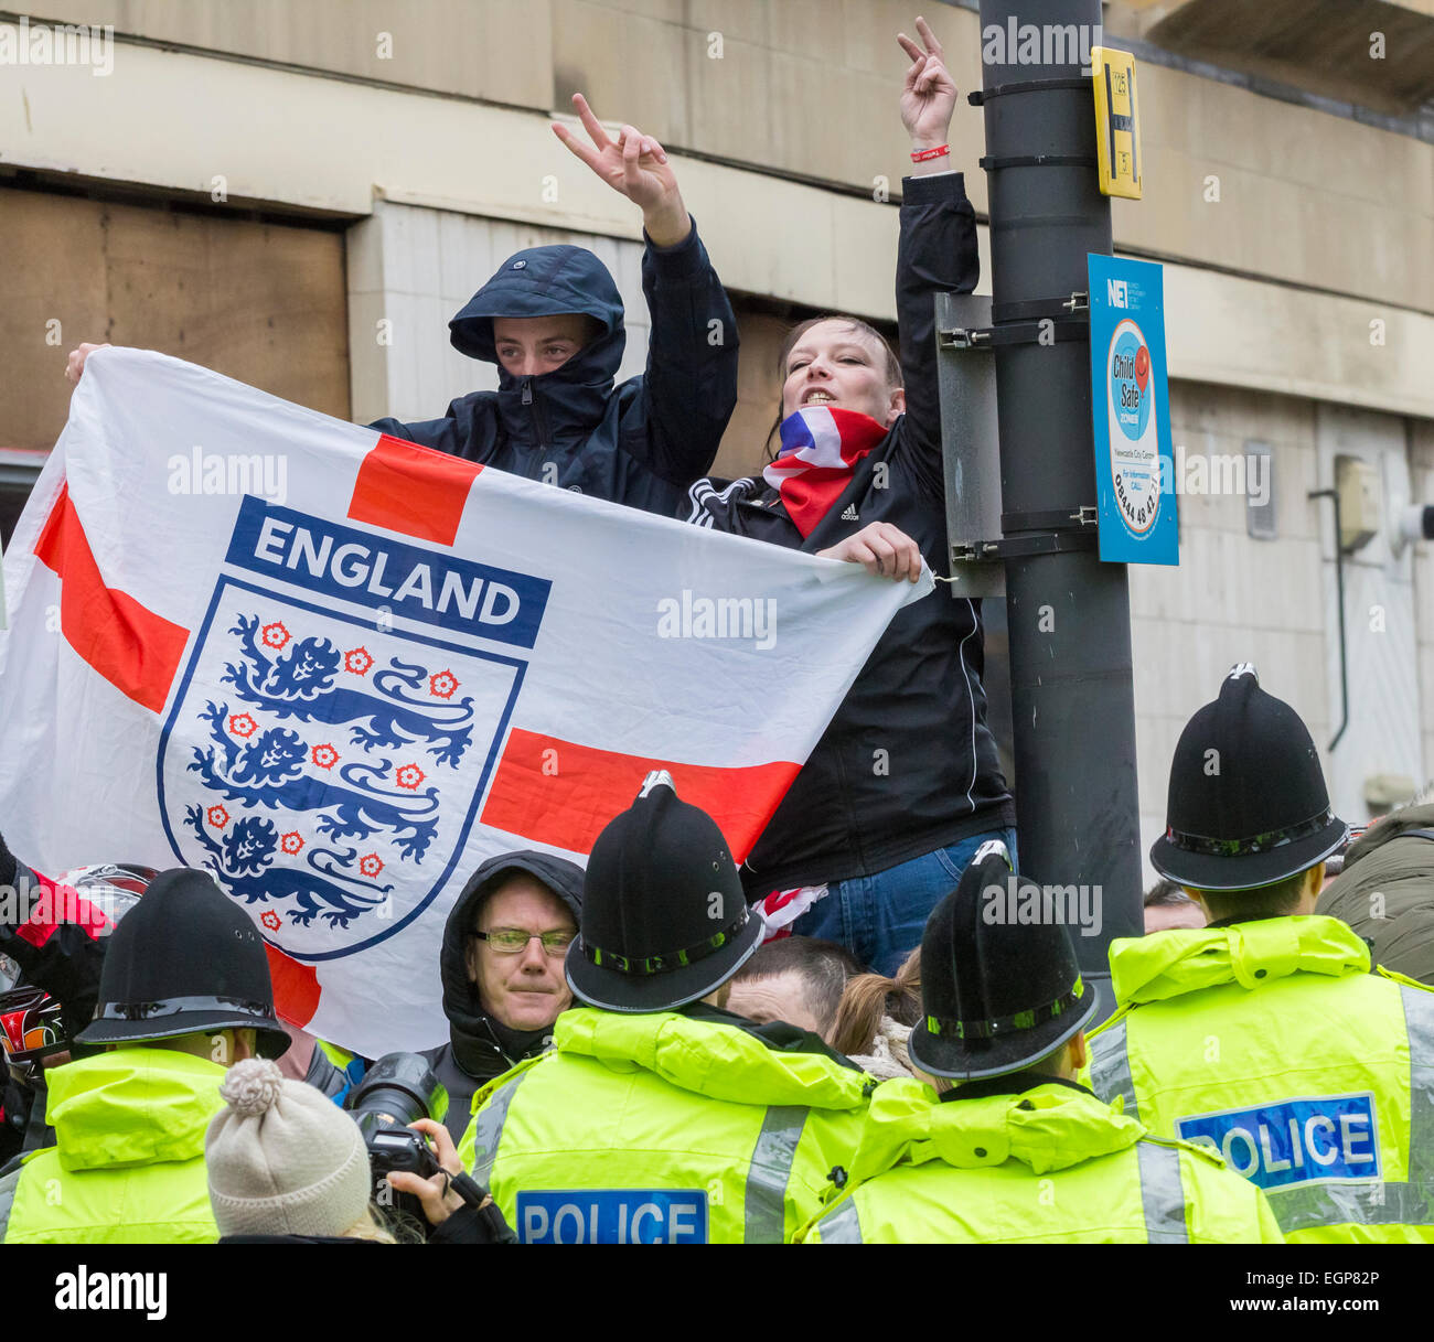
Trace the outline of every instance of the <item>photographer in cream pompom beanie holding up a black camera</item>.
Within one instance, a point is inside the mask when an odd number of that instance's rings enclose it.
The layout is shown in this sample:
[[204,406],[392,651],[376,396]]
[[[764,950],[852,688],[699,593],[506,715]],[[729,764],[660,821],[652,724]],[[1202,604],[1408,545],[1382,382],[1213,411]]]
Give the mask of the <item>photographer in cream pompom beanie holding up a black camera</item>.
[[[512,1243],[492,1199],[463,1173],[443,1124],[419,1118],[410,1131],[381,1113],[386,1105],[404,1110],[410,1077],[432,1081],[422,1060],[390,1054],[370,1078],[374,1074],[377,1085],[364,1087],[374,1103],[366,1107],[360,1095],[356,1120],[272,1062],[251,1058],[229,1070],[219,1088],[227,1107],[205,1134],[209,1203],[221,1243],[419,1239],[407,1217],[390,1222],[374,1206],[376,1180],[417,1200],[433,1226],[432,1243]],[[433,1140],[432,1150],[424,1137]]]

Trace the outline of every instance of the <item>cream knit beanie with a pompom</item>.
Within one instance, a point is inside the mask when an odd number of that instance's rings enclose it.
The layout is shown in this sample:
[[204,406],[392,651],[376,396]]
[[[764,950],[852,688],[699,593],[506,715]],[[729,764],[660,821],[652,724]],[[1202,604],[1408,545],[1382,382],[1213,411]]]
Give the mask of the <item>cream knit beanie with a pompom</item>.
[[369,1153],[358,1124],[272,1062],[245,1058],[219,1094],[204,1158],[219,1234],[338,1236],[369,1207]]

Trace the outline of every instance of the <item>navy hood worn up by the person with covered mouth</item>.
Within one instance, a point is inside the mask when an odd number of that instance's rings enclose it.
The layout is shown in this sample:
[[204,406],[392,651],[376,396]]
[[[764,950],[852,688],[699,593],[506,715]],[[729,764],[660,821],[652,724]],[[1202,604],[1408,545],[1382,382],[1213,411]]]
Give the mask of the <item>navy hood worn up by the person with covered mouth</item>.
[[[602,323],[604,333],[561,368],[535,379],[611,387],[627,348],[622,297],[608,268],[585,247],[529,247],[515,252],[449,323],[453,348],[469,358],[498,364],[495,317],[554,317],[582,313]],[[519,381],[498,364],[500,387]]]

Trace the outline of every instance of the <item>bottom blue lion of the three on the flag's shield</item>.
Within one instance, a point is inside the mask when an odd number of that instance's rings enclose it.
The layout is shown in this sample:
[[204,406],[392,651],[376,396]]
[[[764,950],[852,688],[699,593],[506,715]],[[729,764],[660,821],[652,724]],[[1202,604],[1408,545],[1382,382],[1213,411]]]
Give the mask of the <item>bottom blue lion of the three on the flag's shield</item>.
[[204,812],[198,806],[185,807],[184,819],[211,855],[204,865],[231,896],[245,903],[294,899],[298,908],[287,912],[298,926],[307,928],[317,916],[327,919],[331,928],[347,928],[358,915],[384,903],[393,889],[336,869],[336,865],[351,865],[357,849],[315,849],[310,866],[272,866],[278,829],[264,816],[245,816],[218,842],[205,832]]

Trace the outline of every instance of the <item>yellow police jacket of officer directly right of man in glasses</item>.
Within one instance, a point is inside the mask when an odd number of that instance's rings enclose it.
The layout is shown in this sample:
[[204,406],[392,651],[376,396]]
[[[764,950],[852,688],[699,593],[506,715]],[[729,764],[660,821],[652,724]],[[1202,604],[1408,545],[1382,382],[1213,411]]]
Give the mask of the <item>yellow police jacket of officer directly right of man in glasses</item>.
[[578,1008],[479,1091],[459,1156],[522,1243],[782,1243],[835,1194],[873,1085],[711,1014]]

